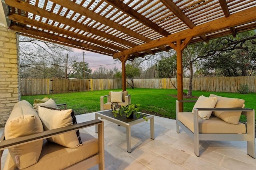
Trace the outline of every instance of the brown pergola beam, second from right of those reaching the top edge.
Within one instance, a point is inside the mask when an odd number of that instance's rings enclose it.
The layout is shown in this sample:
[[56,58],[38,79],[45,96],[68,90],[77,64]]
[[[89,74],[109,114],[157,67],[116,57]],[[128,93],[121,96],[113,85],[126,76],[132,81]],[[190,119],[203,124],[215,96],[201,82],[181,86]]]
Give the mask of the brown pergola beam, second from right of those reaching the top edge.
[[174,15],[176,15],[182,22],[184,22],[190,29],[196,26],[172,0],[160,0],[167,8],[169,8]]

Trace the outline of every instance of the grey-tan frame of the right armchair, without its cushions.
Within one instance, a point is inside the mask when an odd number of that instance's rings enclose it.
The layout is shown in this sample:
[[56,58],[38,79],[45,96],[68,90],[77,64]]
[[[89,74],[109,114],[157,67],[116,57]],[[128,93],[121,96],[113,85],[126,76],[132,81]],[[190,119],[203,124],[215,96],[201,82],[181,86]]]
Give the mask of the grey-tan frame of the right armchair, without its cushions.
[[[255,158],[255,111],[249,108],[194,108],[194,133],[178,119],[179,104],[196,101],[176,100],[176,131],[181,127],[194,140],[194,153],[199,154],[199,141],[247,141],[247,154]],[[242,111],[247,117],[245,134],[199,133],[198,111]]]

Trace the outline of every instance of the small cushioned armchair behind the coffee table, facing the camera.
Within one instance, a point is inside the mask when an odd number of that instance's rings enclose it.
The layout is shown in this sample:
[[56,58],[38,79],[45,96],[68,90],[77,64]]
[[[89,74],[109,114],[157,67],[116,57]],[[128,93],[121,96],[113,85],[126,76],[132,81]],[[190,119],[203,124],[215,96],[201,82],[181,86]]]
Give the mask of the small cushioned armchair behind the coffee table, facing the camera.
[[[106,103],[104,103],[104,98],[107,98]],[[121,106],[127,106],[131,104],[131,95],[128,94],[128,91],[124,92],[112,92],[110,91],[108,95],[100,96],[100,111],[111,109],[112,103],[118,103]]]

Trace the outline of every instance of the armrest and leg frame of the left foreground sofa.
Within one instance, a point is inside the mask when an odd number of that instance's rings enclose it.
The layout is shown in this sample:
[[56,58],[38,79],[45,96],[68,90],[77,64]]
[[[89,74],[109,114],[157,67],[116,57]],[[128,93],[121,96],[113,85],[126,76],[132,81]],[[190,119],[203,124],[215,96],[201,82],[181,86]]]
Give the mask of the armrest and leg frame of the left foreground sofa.
[[[63,134],[63,133],[69,132],[69,131],[76,131],[78,129],[83,129],[83,128],[94,126],[94,125],[98,126],[98,150],[99,150],[98,154],[93,155],[85,160],[82,160],[82,161],[76,163],[76,164],[73,164],[66,169],[67,170],[68,169],[78,169],[81,167],[83,169],[88,169],[88,168],[91,168],[98,164],[99,170],[104,170],[104,168],[105,168],[104,122],[99,119],[86,121],[83,123],[78,123],[78,124],[70,125],[67,127],[61,127],[61,128],[57,128],[57,129],[43,131],[40,133],[36,133],[36,134],[24,136],[24,137],[17,137],[17,138],[8,139],[8,140],[4,139],[4,133],[3,133],[2,136],[0,137],[0,157],[2,158],[4,149],[24,145],[26,143],[31,143],[31,142],[35,142],[35,141],[39,141],[39,140],[43,140],[43,139],[53,137],[56,135],[60,135],[60,134]],[[2,163],[0,161],[0,167],[1,167],[1,165],[2,165]]]

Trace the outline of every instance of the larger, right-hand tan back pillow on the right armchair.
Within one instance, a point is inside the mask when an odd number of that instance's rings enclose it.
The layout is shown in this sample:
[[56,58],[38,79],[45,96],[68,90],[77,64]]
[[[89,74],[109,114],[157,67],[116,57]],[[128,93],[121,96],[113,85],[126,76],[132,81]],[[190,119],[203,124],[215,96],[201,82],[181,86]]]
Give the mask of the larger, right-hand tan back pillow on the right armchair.
[[[217,96],[215,94],[210,94],[210,97],[216,97],[217,103],[215,108],[242,108],[244,107],[244,100],[237,98],[226,98]],[[240,119],[242,111],[214,111],[213,115],[226,121],[227,123],[232,123],[237,125]]]

